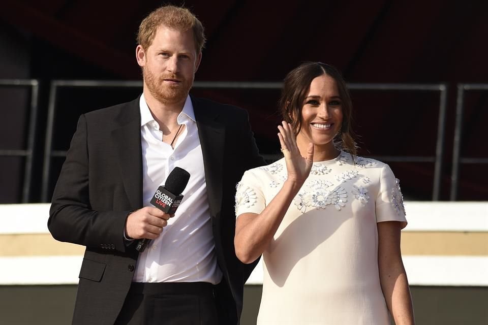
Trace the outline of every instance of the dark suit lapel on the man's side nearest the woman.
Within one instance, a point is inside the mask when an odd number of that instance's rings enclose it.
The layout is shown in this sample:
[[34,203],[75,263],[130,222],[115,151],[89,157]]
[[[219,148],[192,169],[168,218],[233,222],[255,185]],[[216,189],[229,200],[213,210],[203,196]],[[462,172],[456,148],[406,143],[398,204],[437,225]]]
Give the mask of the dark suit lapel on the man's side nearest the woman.
[[210,214],[216,217],[222,207],[225,126],[217,121],[218,113],[210,105],[193,96],[191,99],[202,147]]

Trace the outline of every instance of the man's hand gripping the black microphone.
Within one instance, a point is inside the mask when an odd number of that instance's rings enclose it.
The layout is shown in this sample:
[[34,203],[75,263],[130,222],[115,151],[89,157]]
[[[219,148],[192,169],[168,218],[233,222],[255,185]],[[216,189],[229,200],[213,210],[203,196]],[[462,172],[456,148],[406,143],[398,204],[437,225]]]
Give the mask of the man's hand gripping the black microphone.
[[173,216],[153,207],[134,211],[127,217],[126,236],[132,239],[156,239],[168,224],[167,220]]

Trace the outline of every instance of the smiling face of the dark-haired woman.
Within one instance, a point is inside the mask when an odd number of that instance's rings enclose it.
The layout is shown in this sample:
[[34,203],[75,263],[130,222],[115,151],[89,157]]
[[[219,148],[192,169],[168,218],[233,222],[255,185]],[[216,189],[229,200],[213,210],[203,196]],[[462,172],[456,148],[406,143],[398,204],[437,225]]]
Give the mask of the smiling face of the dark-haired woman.
[[333,139],[342,125],[342,100],[335,80],[324,74],[310,83],[301,110],[302,127],[298,134],[316,147],[333,148]]

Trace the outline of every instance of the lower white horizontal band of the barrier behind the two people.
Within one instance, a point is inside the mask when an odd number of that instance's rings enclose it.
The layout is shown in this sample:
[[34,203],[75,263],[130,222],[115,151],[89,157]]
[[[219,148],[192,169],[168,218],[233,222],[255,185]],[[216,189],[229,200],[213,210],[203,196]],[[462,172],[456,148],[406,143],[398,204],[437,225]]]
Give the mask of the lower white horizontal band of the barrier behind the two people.
[[[0,257],[0,285],[77,284],[82,256]],[[404,256],[410,285],[488,286],[487,256]],[[7,272],[5,272],[7,271]],[[246,284],[263,283],[260,261]]]

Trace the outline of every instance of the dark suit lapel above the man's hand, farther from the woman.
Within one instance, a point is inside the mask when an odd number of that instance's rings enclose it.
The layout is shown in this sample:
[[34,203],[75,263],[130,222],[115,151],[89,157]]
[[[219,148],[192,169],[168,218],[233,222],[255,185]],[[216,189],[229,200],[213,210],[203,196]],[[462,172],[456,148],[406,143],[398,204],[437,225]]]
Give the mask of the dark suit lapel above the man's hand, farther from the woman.
[[123,107],[112,131],[112,144],[132,210],[142,207],[142,147],[139,98]]

